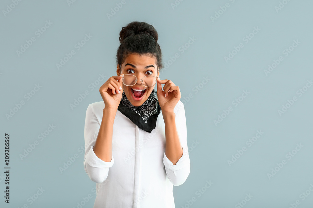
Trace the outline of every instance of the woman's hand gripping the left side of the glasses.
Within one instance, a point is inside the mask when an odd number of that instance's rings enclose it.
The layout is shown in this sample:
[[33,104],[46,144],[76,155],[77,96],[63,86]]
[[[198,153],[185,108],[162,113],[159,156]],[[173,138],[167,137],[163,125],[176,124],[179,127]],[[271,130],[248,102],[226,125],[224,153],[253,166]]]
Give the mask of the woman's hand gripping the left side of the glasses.
[[[111,76],[99,89],[104,101],[105,108],[118,108],[123,93],[123,82],[121,76]],[[120,93],[119,93],[120,92]]]

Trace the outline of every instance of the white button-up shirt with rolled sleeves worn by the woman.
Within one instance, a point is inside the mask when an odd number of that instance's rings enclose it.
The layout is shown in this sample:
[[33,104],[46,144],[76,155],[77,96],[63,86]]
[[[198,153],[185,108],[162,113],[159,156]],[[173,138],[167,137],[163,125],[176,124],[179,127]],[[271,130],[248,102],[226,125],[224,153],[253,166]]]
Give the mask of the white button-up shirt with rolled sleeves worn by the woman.
[[176,165],[165,155],[162,111],[151,133],[138,128],[117,110],[113,124],[112,160],[95,155],[93,146],[102,121],[103,101],[88,106],[85,120],[84,168],[96,182],[94,208],[175,208],[173,185],[183,184],[190,173],[185,109],[179,100],[175,123],[183,155]]

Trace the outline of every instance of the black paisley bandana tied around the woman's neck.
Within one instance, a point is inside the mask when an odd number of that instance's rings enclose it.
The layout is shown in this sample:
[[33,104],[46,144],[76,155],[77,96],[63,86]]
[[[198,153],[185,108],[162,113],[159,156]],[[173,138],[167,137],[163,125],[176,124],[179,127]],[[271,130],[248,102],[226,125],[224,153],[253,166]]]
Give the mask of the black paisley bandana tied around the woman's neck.
[[141,106],[133,106],[123,91],[122,99],[117,109],[135,123],[136,126],[149,133],[156,128],[156,119],[161,112],[154,89]]

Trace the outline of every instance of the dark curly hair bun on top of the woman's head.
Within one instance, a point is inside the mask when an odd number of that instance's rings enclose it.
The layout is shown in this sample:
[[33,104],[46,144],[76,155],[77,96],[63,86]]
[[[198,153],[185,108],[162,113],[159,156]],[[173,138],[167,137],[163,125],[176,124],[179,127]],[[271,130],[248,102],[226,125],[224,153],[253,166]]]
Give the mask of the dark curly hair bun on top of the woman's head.
[[122,30],[120,32],[120,43],[128,37],[128,36],[135,36],[140,33],[146,33],[151,35],[156,41],[158,39],[157,31],[156,29],[146,23],[146,22],[131,22],[126,27],[122,27]]

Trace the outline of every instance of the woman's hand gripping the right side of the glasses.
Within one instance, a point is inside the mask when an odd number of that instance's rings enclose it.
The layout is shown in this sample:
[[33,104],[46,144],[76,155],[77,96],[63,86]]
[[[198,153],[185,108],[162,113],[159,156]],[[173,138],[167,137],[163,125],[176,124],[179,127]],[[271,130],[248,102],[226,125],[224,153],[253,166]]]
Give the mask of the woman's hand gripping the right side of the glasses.
[[[162,90],[162,85],[164,84],[164,91]],[[174,85],[171,80],[159,80],[156,79],[157,87],[157,99],[163,113],[172,113],[174,108],[178,103],[178,100],[182,97],[180,94],[179,87]],[[166,96],[165,96],[166,95]]]

